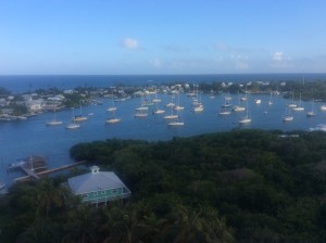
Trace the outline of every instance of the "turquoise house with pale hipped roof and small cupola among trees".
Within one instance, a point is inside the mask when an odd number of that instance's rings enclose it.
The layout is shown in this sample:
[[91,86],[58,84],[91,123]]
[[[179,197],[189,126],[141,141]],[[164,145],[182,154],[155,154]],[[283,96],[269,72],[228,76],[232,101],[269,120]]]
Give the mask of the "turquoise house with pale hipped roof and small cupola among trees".
[[70,178],[68,187],[75,195],[80,195],[84,203],[105,204],[113,200],[127,199],[129,189],[113,171],[100,171],[98,166],[90,167],[90,172]]

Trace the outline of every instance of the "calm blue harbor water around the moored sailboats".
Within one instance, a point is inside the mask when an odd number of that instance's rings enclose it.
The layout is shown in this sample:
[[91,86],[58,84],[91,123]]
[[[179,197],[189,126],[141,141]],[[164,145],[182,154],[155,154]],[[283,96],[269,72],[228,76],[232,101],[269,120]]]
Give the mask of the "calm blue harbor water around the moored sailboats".
[[[2,84],[0,84],[1,86]],[[233,105],[238,104],[238,95],[233,97]],[[160,107],[170,114],[171,110],[165,104],[171,102],[168,94],[160,94],[162,102]],[[26,157],[32,154],[41,154],[48,157],[49,167],[58,167],[72,163],[68,156],[68,150],[72,145],[79,142],[90,142],[95,140],[104,140],[111,138],[120,139],[143,139],[149,141],[170,140],[173,137],[190,137],[195,135],[228,131],[231,129],[279,129],[289,130],[309,130],[326,122],[326,112],[321,112],[322,103],[315,103],[315,117],[306,117],[306,112],[311,111],[310,102],[302,102],[305,107],[304,112],[293,112],[294,119],[290,123],[281,120],[286,112],[288,100],[281,95],[274,95],[273,104],[267,105],[269,95],[251,94],[248,99],[248,107],[252,122],[240,127],[238,120],[246,113],[233,112],[228,116],[218,116],[221,105],[224,103],[224,94],[217,94],[214,99],[209,95],[202,95],[204,111],[193,113],[191,99],[180,94],[180,105],[185,110],[180,113],[185,122],[184,127],[168,127],[162,115],[152,115],[149,112],[147,118],[135,118],[135,108],[140,105],[140,98],[133,98],[124,102],[116,102],[116,116],[122,122],[115,125],[105,125],[105,118],[110,117],[106,108],[111,100],[103,100],[102,105],[84,106],[84,115],[93,114],[88,120],[82,123],[77,130],[67,130],[65,126],[70,123],[73,115],[72,110],[57,112],[57,118],[63,120],[62,126],[48,127],[46,123],[53,118],[53,114],[45,113],[30,117],[24,122],[2,122],[0,123],[0,180],[10,183],[17,175],[7,174],[5,165],[16,161],[20,157]],[[261,104],[255,104],[254,99],[261,99]],[[242,103],[242,105],[246,105]],[[151,106],[150,110],[153,110]],[[80,111],[75,110],[78,114]],[[267,112],[267,113],[265,113]]]

